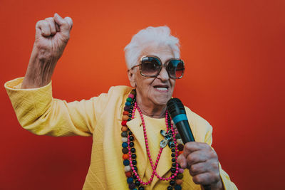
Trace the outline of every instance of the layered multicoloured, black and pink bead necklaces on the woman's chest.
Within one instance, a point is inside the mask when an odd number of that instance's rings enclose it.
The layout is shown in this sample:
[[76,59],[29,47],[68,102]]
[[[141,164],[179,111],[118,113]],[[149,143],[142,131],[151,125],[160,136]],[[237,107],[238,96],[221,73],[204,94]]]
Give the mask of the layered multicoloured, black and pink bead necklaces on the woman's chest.
[[[140,107],[138,107],[137,102],[135,101],[135,89],[130,92],[128,95],[128,98],[125,102],[123,117],[122,117],[122,152],[123,152],[123,164],[125,166],[125,176],[127,176],[127,183],[129,186],[129,189],[132,190],[143,190],[145,189],[144,186],[147,186],[148,184],[152,183],[153,178],[156,176],[158,179],[162,181],[170,181],[170,186],[167,186],[167,190],[175,189],[180,190],[182,189],[182,178],[183,178],[183,171],[184,169],[181,169],[179,165],[177,164],[177,157],[178,155],[182,154],[183,152],[183,143],[180,137],[180,134],[178,134],[177,130],[173,127],[171,124],[170,117],[168,116],[167,112],[165,113],[165,124],[166,124],[166,132],[164,130],[161,130],[160,133],[162,134],[165,139],[162,139],[160,142],[160,152],[157,154],[157,159],[154,162],[152,161],[151,155],[150,155],[150,149],[148,147],[147,142],[147,133],[145,128],[145,120],[142,116],[142,112],[140,110]],[[142,127],[143,132],[145,136],[145,147],[147,149],[147,156],[150,161],[150,165],[152,167],[152,175],[150,176],[150,179],[147,182],[142,181],[140,176],[138,175],[138,163],[136,161],[137,155],[135,154],[135,137],[133,136],[133,132],[128,129],[127,122],[132,120],[135,117],[135,110],[138,110],[140,113],[140,118],[142,120]],[[172,167],[170,169],[171,176],[163,178],[162,176],[159,176],[157,174],[156,168],[157,164],[160,160],[160,156],[162,154],[162,150],[165,147],[170,147],[171,149],[171,161],[172,161]]]

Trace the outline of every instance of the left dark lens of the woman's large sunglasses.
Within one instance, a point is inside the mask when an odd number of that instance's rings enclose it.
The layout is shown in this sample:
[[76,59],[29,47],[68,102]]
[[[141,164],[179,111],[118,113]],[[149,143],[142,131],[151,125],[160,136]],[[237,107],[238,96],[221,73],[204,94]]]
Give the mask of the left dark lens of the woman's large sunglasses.
[[155,76],[157,72],[160,70],[161,64],[160,60],[152,57],[142,58],[141,61],[141,71],[142,74],[147,76]]

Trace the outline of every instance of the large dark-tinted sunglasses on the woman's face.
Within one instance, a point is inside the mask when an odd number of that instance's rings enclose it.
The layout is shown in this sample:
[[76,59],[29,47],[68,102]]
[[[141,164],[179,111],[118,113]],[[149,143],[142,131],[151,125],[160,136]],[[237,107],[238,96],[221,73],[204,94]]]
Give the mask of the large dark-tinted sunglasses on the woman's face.
[[165,65],[162,65],[160,58],[157,56],[142,56],[140,64],[133,66],[131,69],[140,66],[140,75],[145,77],[157,77],[160,74],[162,67],[165,67],[170,78],[182,78],[185,67],[181,59],[171,58],[167,60]]

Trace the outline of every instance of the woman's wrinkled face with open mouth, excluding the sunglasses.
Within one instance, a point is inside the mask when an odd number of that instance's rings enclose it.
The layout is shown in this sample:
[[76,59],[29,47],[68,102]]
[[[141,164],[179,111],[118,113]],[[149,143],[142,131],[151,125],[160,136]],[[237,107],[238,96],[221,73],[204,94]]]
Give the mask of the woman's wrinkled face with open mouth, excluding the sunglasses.
[[[141,56],[145,55],[159,57],[163,65],[170,58],[174,58],[172,49],[165,45],[149,46],[142,51]],[[132,72],[132,75],[130,75],[130,72]],[[155,78],[140,75],[139,67],[135,67],[130,72],[130,83],[136,88],[137,100],[140,100],[146,107],[166,105],[167,101],[172,97],[175,79],[170,78],[165,67],[162,67],[159,75]]]

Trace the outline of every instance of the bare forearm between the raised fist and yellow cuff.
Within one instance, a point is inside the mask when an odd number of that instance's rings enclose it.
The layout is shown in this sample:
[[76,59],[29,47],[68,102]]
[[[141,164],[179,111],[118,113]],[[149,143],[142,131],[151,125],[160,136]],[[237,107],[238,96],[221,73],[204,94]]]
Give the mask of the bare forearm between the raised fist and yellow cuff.
[[50,83],[57,61],[47,49],[34,46],[21,88],[40,88]]

